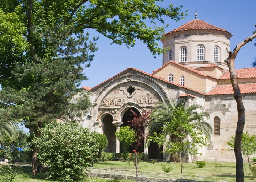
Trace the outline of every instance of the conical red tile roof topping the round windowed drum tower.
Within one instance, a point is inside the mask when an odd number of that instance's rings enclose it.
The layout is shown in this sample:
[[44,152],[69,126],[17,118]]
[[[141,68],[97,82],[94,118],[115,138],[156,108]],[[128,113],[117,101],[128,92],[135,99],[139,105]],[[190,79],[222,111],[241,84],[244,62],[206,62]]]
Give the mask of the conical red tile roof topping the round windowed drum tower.
[[[165,33],[163,36],[166,36],[170,33],[173,32],[181,32],[181,31],[186,31],[186,30],[203,30],[203,29],[212,29],[212,30],[218,30],[218,31],[223,31],[223,32],[227,32],[229,33],[227,30],[219,28],[219,27],[215,27],[214,25],[211,25],[203,20],[199,20],[199,19],[193,19],[191,21],[189,21],[188,23],[185,23],[184,25],[181,25],[180,27]],[[231,33],[229,33],[230,36],[232,36]]]

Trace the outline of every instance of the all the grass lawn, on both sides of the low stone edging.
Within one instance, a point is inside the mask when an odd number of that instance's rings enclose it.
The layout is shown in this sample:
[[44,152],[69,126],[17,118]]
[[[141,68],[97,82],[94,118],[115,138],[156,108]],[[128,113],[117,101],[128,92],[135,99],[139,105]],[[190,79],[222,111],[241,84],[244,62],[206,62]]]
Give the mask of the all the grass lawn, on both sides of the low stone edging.
[[[173,169],[170,173],[165,174],[162,170],[162,165],[172,166]],[[135,167],[132,163],[122,161],[108,161],[98,162],[94,165],[94,169],[108,168],[113,169],[114,174],[135,175]],[[42,182],[46,180],[47,173],[38,173],[37,177],[31,175],[31,168],[27,167],[13,167],[16,171],[14,182]],[[94,170],[93,169],[93,170]],[[105,173],[108,173],[107,170]],[[114,170],[118,169],[118,171]],[[249,166],[246,164],[247,173],[249,173]],[[195,163],[184,163],[183,174],[180,175],[180,163],[167,163],[167,162],[139,162],[139,176],[169,178],[169,179],[188,179],[195,181],[235,181],[236,164],[229,162],[206,162],[204,168],[199,168]],[[245,172],[245,171],[244,171]],[[245,173],[244,173],[245,174]],[[85,182],[132,182],[118,179],[103,179],[103,178],[89,178],[84,179]],[[245,181],[252,182],[249,175],[245,175]],[[48,181],[49,182],[49,181]]]

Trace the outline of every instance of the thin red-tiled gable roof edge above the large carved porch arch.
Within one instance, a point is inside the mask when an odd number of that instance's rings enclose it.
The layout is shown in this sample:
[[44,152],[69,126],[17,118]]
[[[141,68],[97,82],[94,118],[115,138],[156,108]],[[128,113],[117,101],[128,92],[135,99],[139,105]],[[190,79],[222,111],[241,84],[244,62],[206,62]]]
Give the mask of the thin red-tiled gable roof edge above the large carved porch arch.
[[[121,74],[124,74],[125,72],[127,72],[127,71],[129,71],[129,70],[137,71],[137,72],[139,72],[139,73],[141,73],[141,74],[145,74],[145,75],[147,75],[147,76],[150,76],[150,77],[156,78],[156,79],[158,79],[158,80],[161,80],[162,82],[165,82],[165,83],[167,83],[167,84],[171,84],[171,85],[176,86],[176,87],[185,88],[185,89],[187,89],[187,90],[190,90],[190,91],[196,92],[196,93],[198,93],[198,94],[206,95],[206,94],[204,94],[204,93],[202,93],[202,92],[199,92],[199,91],[197,91],[197,90],[193,90],[192,88],[188,88],[188,87],[185,87],[185,86],[181,86],[181,85],[176,84],[176,83],[173,83],[173,82],[168,82],[168,81],[166,81],[166,80],[164,80],[164,79],[162,79],[162,78],[159,78],[159,77],[154,76],[154,75],[152,75],[152,74],[148,74],[147,72],[144,72],[144,71],[138,70],[138,69],[136,69],[136,68],[132,68],[132,67],[127,68],[127,69],[125,69],[125,70],[121,71],[120,73],[118,73],[118,74],[116,74],[116,75],[112,76],[111,78],[109,78],[109,79],[105,80],[104,82],[102,82],[102,83],[98,84],[97,86],[95,86],[95,87],[91,88],[91,89],[90,89],[90,91],[93,91],[93,90],[97,89],[97,87],[101,86],[102,84],[107,83],[108,81],[112,80],[113,78],[115,78],[115,77],[117,77],[117,76],[119,76],[119,75],[121,75]],[[86,88],[89,88],[89,87],[82,87],[82,88],[86,89]]]

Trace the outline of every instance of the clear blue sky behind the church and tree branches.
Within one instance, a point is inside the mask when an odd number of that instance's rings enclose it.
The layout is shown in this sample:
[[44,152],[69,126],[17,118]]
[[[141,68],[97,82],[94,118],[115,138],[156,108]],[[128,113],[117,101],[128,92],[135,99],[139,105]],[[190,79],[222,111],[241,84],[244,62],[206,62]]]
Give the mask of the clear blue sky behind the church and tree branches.
[[[246,37],[252,35],[256,29],[256,0],[165,0],[161,5],[167,7],[170,3],[174,6],[183,5],[182,11],[188,9],[188,16],[185,20],[178,22],[165,18],[165,24],[169,27],[165,32],[169,32],[188,21],[193,20],[195,9],[197,18],[212,25],[226,29],[233,36],[230,39],[230,49],[233,50],[236,44]],[[163,24],[158,24],[163,26]],[[137,41],[135,47],[127,48],[125,45],[110,45],[111,41],[97,32],[90,31],[90,36],[99,36],[97,41],[98,51],[91,62],[91,67],[84,69],[84,74],[89,78],[82,82],[81,86],[94,87],[97,84],[109,79],[128,67],[151,73],[162,66],[162,55],[153,55],[146,45]],[[158,41],[162,47],[161,41]],[[256,57],[255,41],[246,44],[238,53],[236,58],[236,69],[251,67],[253,58]]]

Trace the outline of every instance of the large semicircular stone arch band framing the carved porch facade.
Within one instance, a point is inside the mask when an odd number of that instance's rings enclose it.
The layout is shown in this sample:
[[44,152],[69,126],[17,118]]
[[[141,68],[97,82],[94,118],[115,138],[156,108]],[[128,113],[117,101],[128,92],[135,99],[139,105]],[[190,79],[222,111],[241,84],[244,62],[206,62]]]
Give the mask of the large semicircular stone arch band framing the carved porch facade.
[[[91,119],[99,122],[100,117],[98,114],[98,109],[99,109],[99,106],[100,106],[100,103],[102,102],[102,100],[105,98],[105,96],[107,94],[109,94],[109,92],[111,92],[113,90],[113,88],[115,88],[119,84],[129,82],[129,81],[147,84],[151,89],[155,90],[158,93],[159,97],[161,98],[161,100],[163,102],[170,103],[169,97],[166,94],[165,90],[163,90],[163,88],[155,80],[149,78],[148,76],[144,76],[141,74],[127,74],[127,75],[119,76],[117,78],[110,80],[110,82],[108,82],[99,91],[98,96],[94,100],[94,107],[92,107],[90,110],[89,115],[92,116]],[[138,106],[135,106],[135,108],[140,110]],[[102,114],[103,113],[101,113],[100,115],[102,116]],[[113,114],[113,112],[112,112],[112,114]],[[116,115],[116,114],[114,114],[114,115]],[[115,120],[119,119],[117,116],[115,116],[114,118],[115,118]]]

